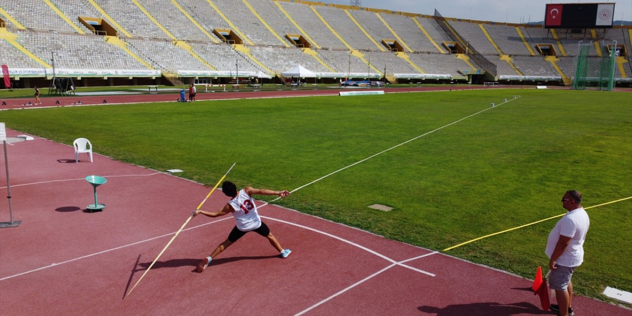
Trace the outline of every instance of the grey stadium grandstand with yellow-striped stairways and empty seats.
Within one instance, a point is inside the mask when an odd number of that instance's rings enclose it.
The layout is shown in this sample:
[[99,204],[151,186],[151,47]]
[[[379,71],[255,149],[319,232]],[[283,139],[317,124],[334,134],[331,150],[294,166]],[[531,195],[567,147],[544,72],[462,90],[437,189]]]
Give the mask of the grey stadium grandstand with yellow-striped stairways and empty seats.
[[[4,0],[0,64],[19,88],[182,85],[267,78],[300,64],[313,80],[570,85],[616,49],[632,85],[632,28],[545,28],[300,0]],[[5,68],[6,69],[6,68]]]

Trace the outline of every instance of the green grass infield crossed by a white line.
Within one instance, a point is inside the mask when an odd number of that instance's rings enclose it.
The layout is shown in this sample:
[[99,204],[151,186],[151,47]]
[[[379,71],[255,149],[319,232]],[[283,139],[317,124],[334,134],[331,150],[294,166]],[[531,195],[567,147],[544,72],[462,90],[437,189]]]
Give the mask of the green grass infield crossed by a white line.
[[[520,95],[512,99],[513,95]],[[497,107],[502,99],[510,102]],[[233,162],[238,185],[294,190],[280,204],[432,250],[632,196],[632,94],[480,90],[357,97],[200,101],[0,112],[25,133],[214,185]],[[95,128],[100,126],[100,128]],[[168,190],[168,188],[165,188]],[[391,212],[368,205],[394,207]],[[189,212],[190,210],[181,210]],[[632,199],[588,210],[580,295],[632,291]],[[446,253],[533,279],[557,221]]]

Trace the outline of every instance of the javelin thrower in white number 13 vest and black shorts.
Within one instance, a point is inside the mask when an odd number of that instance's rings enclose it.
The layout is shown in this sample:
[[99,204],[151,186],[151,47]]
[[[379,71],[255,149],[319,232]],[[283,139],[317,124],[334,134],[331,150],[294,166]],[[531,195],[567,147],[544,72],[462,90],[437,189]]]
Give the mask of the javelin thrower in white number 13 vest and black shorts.
[[240,239],[243,235],[248,233],[249,231],[255,231],[256,233],[264,236],[270,241],[270,245],[272,245],[276,250],[279,251],[281,258],[288,257],[289,253],[292,250],[284,249],[279,244],[279,241],[270,233],[270,229],[268,226],[261,221],[261,217],[257,212],[257,206],[255,206],[255,200],[252,198],[252,195],[279,195],[279,197],[288,197],[289,191],[272,191],[268,189],[255,189],[251,186],[246,186],[245,188],[237,191],[237,187],[231,181],[224,181],[222,183],[222,191],[228,197],[231,197],[231,200],[228,201],[228,204],[224,205],[221,209],[216,212],[206,212],[205,210],[195,210],[193,212],[193,217],[198,214],[203,214],[209,217],[219,217],[224,216],[228,213],[233,214],[235,218],[236,225],[234,226],[231,233],[228,235],[228,238],[224,240],[215,250],[210,254],[209,257],[206,257],[200,261],[197,265],[196,271],[202,272],[206,267],[209,266],[210,261],[215,258],[216,255],[223,252],[230,245],[233,245],[235,241]]

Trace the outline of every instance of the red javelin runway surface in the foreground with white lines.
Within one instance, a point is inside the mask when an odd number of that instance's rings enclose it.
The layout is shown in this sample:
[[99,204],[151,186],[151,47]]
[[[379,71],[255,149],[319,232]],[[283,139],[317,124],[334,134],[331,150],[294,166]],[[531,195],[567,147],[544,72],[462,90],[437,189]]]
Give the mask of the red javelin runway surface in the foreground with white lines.
[[[72,147],[37,137],[7,152],[22,222],[0,229],[2,315],[554,314],[538,308],[528,279],[274,205],[260,214],[293,250],[288,258],[246,234],[198,274],[195,265],[234,225],[230,216],[200,216],[126,297],[210,188],[98,154],[75,163]],[[103,212],[84,212],[94,202],[84,179],[92,174],[107,179],[97,189]],[[227,200],[216,191],[202,209]],[[9,221],[4,200],[0,221]],[[581,296],[573,307],[630,315]]]

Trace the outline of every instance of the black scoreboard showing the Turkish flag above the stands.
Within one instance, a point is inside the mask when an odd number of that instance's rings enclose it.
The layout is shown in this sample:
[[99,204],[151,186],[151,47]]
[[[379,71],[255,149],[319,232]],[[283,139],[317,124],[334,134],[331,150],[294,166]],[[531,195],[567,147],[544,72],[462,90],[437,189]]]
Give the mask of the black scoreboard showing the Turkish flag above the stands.
[[611,28],[614,3],[547,4],[545,28]]

